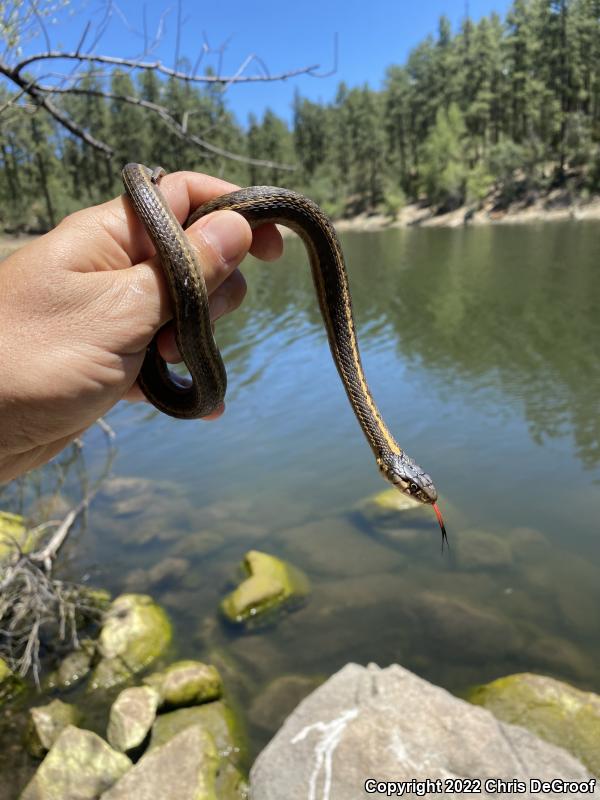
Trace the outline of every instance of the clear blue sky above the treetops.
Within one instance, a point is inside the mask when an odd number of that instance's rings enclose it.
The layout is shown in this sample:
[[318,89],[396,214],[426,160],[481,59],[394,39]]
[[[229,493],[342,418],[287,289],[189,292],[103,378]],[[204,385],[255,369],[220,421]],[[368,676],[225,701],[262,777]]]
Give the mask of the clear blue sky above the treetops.
[[[505,15],[509,0],[469,0],[469,14],[479,19],[492,11]],[[116,0],[98,52],[138,55],[143,50],[144,14],[147,29],[154,34],[161,15],[164,30],[154,51],[172,66],[177,30],[176,0]],[[74,0],[76,13],[61,16],[51,27],[53,43],[75,46],[88,19],[101,17],[100,6]],[[229,107],[242,123],[249,112],[260,115],[266,107],[291,118],[294,91],[312,100],[331,100],[340,81],[350,86],[367,81],[380,85],[389,64],[403,63],[410,50],[437,30],[440,15],[446,14],[456,30],[464,18],[465,0],[182,0],[180,53],[194,62],[201,52],[203,34],[212,48],[227,43],[223,72],[235,73],[244,60],[256,54],[271,74],[320,64],[328,72],[333,66],[334,39],[339,49],[337,71],[326,78],[299,77],[282,83],[234,86],[228,90]],[[42,47],[38,39],[35,49]],[[31,46],[27,48],[32,49]],[[205,56],[204,64],[216,64]],[[250,67],[255,71],[256,65]]]

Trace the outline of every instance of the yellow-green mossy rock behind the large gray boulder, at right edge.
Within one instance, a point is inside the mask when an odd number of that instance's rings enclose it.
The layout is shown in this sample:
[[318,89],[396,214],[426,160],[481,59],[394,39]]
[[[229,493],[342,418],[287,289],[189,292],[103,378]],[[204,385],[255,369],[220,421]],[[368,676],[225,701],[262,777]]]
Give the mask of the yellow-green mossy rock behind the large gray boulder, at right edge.
[[600,777],[600,695],[525,672],[478,686],[468,699],[564,747]]

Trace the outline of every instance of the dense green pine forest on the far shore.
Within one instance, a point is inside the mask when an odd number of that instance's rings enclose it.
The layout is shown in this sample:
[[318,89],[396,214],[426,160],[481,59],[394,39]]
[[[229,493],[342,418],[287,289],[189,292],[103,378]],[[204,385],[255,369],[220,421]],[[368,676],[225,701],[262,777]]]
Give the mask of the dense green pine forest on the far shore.
[[[56,102],[115,157],[106,161],[42,111],[10,108],[0,115],[1,226],[44,229],[114,195],[119,166],[131,160],[289,186],[334,217],[393,215],[416,199],[440,211],[476,206],[490,191],[503,205],[566,182],[578,197],[600,189],[600,0],[515,0],[504,20],[465,19],[456,32],[442,17],[381,87],[340,84],[326,105],[297,95],[291,129],[271,111],[242,125],[218,87],[153,72],[115,70],[102,81],[90,73],[79,89]],[[212,144],[296,169],[215,157],[118,99],[132,95],[160,102]]]

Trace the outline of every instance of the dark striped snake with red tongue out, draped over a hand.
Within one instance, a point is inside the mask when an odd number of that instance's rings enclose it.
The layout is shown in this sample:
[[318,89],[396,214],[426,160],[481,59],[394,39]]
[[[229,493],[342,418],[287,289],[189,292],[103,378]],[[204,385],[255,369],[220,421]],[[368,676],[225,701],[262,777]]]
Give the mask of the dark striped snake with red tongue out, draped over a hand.
[[227,389],[227,373],[213,334],[202,267],[184,229],[206,214],[224,209],[241,214],[252,229],[267,223],[291,228],[306,247],[331,355],[379,471],[402,493],[433,507],[443,549],[448,539],[433,481],[396,442],[367,383],[344,255],[329,218],[316,203],[297,192],[251,186],[203,203],[182,227],[160,191],[160,179],[165,174],[161,167],[127,164],[122,178],[127,196],[161,261],[173,307],[175,339],[191,380],[169,370],[155,336],[138,376],[146,398],[172,417],[196,419],[217,409]]

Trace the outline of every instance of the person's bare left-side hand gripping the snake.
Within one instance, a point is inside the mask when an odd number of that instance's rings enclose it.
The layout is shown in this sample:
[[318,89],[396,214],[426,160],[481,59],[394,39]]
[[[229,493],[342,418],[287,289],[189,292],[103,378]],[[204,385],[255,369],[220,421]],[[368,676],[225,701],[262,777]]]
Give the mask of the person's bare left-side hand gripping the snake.
[[[182,221],[238,187],[179,172],[162,178],[160,188]],[[213,320],[244,298],[237,269],[244,256],[270,261],[282,249],[274,226],[253,233],[233,211],[202,217],[186,233]],[[70,215],[0,264],[0,481],[48,461],[117,401],[143,398],[135,382],[146,347],[172,318],[153,254],[121,196]],[[158,346],[166,361],[181,360],[171,326]]]

